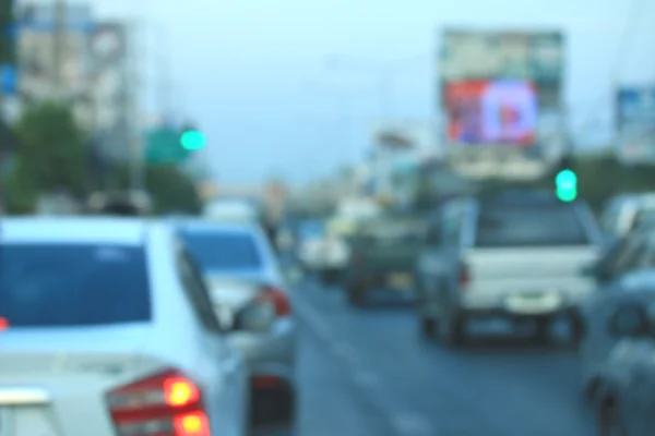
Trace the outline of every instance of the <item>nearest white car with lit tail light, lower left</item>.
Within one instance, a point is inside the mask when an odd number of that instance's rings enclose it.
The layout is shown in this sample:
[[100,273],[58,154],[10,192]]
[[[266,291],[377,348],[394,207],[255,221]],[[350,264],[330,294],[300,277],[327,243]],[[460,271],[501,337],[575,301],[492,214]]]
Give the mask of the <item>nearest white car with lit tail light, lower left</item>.
[[245,362],[169,226],[1,226],[0,434],[248,434]]

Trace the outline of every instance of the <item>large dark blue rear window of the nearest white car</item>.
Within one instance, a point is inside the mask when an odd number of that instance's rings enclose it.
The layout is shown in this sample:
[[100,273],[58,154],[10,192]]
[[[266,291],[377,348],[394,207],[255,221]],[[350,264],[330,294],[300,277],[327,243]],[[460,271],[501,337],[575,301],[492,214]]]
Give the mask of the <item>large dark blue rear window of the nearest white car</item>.
[[14,327],[152,318],[146,256],[123,245],[0,245],[0,316]]

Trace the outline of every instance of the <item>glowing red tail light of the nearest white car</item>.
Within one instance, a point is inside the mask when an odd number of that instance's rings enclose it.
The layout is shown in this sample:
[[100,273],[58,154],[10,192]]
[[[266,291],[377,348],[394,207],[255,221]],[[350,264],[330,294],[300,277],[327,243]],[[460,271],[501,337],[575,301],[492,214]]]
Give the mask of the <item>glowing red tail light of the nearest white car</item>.
[[176,370],[120,387],[107,395],[119,436],[210,436],[198,386]]

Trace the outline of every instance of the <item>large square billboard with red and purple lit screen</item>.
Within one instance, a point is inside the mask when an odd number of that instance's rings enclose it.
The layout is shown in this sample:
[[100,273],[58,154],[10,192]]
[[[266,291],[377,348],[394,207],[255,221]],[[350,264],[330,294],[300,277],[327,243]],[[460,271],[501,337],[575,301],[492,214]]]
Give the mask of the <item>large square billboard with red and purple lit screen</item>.
[[560,32],[445,31],[439,106],[446,145],[523,149],[563,136],[563,124],[551,122],[563,114],[563,47]]

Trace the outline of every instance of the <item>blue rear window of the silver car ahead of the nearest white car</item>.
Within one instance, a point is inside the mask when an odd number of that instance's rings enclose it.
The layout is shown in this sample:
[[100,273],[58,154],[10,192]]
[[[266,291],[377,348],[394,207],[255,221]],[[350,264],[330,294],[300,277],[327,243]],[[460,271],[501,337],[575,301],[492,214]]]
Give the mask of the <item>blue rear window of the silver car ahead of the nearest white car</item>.
[[203,271],[251,270],[263,266],[252,234],[247,232],[181,232],[187,250]]

